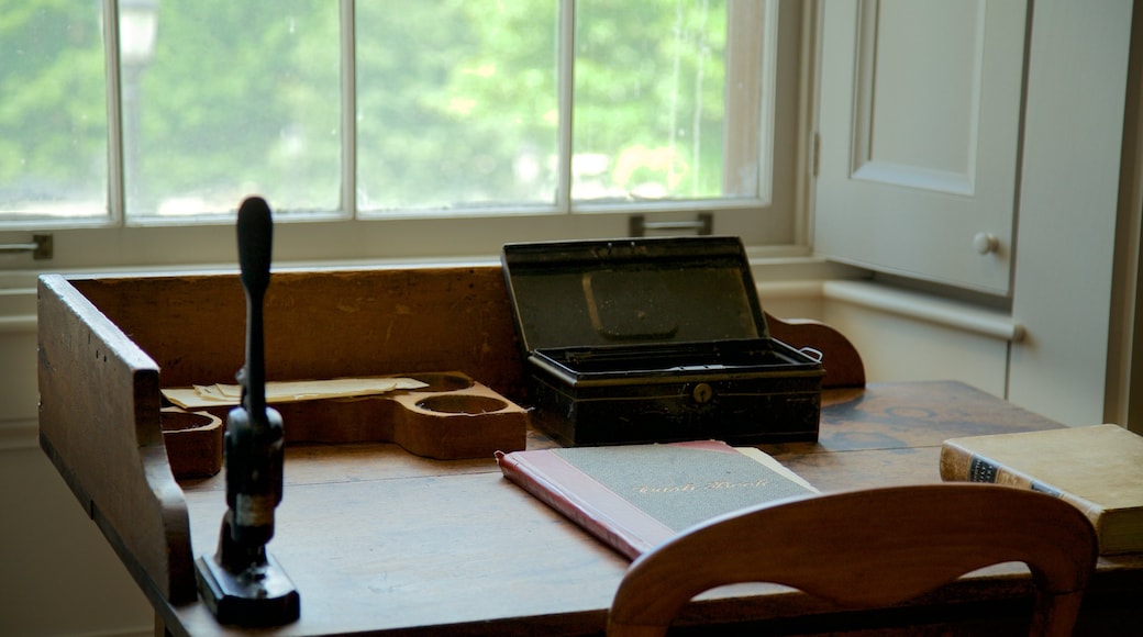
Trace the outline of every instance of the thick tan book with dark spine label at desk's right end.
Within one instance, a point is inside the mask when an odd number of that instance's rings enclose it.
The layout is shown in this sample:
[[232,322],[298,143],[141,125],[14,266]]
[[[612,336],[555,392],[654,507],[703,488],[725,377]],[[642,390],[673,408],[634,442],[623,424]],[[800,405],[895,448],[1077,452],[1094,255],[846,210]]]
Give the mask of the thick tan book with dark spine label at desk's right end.
[[951,438],[941,477],[1050,493],[1087,515],[1101,554],[1143,551],[1143,436],[1117,425]]

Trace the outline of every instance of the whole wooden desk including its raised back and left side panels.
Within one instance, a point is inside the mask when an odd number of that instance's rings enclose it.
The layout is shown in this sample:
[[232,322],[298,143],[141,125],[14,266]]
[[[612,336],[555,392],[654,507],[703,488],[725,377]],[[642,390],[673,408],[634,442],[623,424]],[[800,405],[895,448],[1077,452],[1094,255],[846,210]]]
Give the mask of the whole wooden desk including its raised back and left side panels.
[[[463,370],[526,404],[499,267],[282,273],[266,305],[272,378]],[[175,482],[159,388],[233,378],[243,316],[233,274],[40,281],[41,445],[175,635],[239,631],[218,626],[194,587],[194,557],[215,550],[225,478]],[[825,400],[817,443],[765,447],[825,491],[936,482],[945,438],[1060,427],[958,384],[829,390]],[[628,566],[502,478],[490,453],[441,462],[392,444],[294,445],[285,475],[269,549],[301,592],[302,616],[264,634],[599,632]],[[1143,555],[1098,569],[1081,621],[1104,635],[1094,620],[1143,626],[1129,612],[1143,598]],[[753,584],[703,596],[680,623],[705,634],[738,621],[824,631],[1025,618],[1029,591],[1026,571],[1000,566],[909,607],[839,613]]]

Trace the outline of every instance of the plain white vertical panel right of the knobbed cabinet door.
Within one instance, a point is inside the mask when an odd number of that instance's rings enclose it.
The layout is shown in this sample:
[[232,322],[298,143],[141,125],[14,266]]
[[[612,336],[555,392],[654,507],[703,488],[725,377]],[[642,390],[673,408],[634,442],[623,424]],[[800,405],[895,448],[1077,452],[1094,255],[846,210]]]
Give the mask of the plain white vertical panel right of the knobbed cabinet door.
[[1130,0],[1037,1],[1008,397],[1072,425],[1105,414]]

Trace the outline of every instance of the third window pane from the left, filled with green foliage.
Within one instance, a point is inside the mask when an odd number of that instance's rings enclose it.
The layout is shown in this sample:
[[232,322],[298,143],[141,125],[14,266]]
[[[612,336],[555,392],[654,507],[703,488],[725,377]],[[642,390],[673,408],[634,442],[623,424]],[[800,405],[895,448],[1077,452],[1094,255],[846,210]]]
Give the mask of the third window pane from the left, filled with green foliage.
[[357,3],[363,212],[554,204],[558,7]]

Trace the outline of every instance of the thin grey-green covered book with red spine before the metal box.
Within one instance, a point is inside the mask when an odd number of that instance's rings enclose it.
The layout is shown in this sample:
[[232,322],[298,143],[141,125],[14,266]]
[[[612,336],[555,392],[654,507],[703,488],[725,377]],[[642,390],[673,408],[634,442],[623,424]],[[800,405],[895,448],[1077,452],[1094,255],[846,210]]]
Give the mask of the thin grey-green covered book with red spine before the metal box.
[[632,559],[714,516],[817,492],[765,452],[717,441],[517,451],[496,461],[509,479]]

